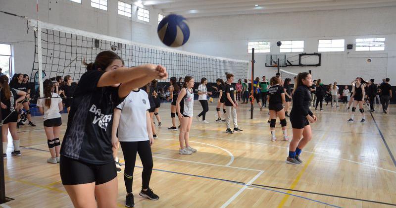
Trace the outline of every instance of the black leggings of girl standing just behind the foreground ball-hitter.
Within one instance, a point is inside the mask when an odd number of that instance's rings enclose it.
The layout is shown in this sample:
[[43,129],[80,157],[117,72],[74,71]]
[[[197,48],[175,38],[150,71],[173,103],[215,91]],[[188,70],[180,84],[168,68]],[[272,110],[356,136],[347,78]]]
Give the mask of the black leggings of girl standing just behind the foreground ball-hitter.
[[139,153],[143,164],[142,189],[148,189],[152,172],[152,155],[150,142],[120,142],[125,159],[124,182],[127,193],[132,193],[133,170],[135,168],[136,153]]

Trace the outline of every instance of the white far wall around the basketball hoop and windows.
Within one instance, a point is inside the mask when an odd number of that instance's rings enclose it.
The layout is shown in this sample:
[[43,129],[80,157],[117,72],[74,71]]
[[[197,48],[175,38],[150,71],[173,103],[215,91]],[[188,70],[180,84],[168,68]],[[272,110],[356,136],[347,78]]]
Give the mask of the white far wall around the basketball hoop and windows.
[[[317,52],[320,39],[345,39],[347,45],[354,44],[356,38],[385,37],[383,52],[322,52],[320,67],[284,69],[294,73],[310,69],[314,78],[321,78],[324,83],[338,81],[343,85],[362,76],[378,82],[390,77],[391,84],[396,85],[395,20],[396,7],[190,18],[191,37],[183,49],[250,60],[250,41],[271,41],[271,53],[279,53],[277,41],[304,40],[304,52],[312,53]],[[255,54],[254,76],[275,75],[276,68],[265,67],[266,55]],[[368,57],[371,63],[366,62]]]

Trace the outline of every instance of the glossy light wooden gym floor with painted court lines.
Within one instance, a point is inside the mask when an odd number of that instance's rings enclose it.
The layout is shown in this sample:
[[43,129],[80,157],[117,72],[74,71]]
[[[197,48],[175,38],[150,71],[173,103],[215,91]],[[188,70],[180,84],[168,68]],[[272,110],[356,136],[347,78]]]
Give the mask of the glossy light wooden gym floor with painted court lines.
[[[380,208],[396,206],[396,107],[390,114],[366,113],[365,123],[347,123],[348,112],[325,106],[316,111],[318,122],[312,125],[313,139],[303,150],[303,164],[285,163],[289,142],[270,141],[266,110],[254,110],[250,119],[249,104],[238,108],[238,124],[243,133],[225,133],[224,123],[214,123],[215,106],[210,104],[207,120],[194,118],[190,141],[198,153],[178,154],[178,131],[169,131],[169,104],[162,104],[162,127],[152,146],[154,170],[150,187],[158,201],[139,196],[142,163],[137,159],[134,172],[134,195],[141,207],[349,207]],[[201,107],[195,102],[194,113]],[[395,112],[394,112],[395,111]],[[356,113],[356,120],[360,115]],[[374,120],[374,119],[375,120]],[[12,208],[67,208],[71,201],[62,187],[58,164],[49,157],[42,117],[34,117],[37,127],[19,130],[21,157],[12,157],[9,138],[5,161],[6,203]],[[61,138],[66,129],[63,115]],[[289,120],[288,120],[289,122]],[[282,138],[279,122],[277,136]],[[291,127],[289,134],[291,135]],[[388,146],[388,149],[385,145]],[[118,156],[123,162],[122,152]],[[125,187],[118,175],[119,207],[124,207]]]

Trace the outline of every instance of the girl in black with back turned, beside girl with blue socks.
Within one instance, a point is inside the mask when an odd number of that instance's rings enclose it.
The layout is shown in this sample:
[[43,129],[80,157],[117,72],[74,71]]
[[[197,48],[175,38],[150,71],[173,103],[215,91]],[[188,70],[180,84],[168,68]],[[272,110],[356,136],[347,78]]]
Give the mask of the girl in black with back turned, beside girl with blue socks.
[[272,77],[270,79],[271,87],[268,89],[268,109],[269,109],[269,118],[270,121],[270,129],[271,129],[271,141],[276,141],[275,137],[275,123],[276,117],[279,116],[281,119],[282,131],[283,131],[283,140],[288,141],[289,137],[286,130],[286,117],[285,110],[283,105],[285,101],[285,91],[283,87],[279,85],[281,80],[278,77]]

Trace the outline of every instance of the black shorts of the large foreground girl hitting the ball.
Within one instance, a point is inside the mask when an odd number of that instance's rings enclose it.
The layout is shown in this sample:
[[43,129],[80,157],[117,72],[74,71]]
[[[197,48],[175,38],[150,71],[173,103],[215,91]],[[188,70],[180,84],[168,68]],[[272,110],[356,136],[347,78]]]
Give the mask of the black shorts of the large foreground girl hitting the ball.
[[117,177],[114,161],[95,165],[66,156],[60,156],[59,167],[63,185],[78,185],[92,182],[95,182],[95,185],[99,185]]

